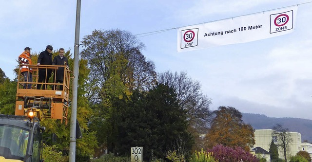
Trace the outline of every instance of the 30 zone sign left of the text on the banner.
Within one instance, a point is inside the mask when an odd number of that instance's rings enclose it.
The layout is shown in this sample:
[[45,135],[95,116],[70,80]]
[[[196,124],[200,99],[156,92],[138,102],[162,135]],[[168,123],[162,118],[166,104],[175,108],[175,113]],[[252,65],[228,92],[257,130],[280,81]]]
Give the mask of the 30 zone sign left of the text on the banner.
[[181,49],[197,46],[198,28],[181,31]]

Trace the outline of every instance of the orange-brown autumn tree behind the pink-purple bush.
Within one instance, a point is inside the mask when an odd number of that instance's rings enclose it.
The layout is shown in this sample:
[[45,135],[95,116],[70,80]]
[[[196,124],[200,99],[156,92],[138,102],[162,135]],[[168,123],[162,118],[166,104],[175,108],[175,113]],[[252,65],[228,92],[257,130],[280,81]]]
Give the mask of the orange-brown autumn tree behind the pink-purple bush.
[[222,144],[239,146],[249,151],[255,144],[254,128],[244,124],[241,118],[241,112],[232,107],[219,107],[215,110],[215,118],[206,135],[208,148]]

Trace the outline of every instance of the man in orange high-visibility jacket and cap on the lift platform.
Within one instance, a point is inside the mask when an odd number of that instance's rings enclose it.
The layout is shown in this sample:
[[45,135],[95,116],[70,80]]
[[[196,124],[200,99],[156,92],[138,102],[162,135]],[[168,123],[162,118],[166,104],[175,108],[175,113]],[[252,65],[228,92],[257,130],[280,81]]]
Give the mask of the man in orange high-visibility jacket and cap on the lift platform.
[[[19,61],[20,61],[20,73],[24,76],[24,82],[33,82],[33,70],[29,68],[27,65],[31,64],[30,58],[30,50],[31,48],[26,47],[24,52],[20,54]],[[24,89],[31,89],[30,83],[24,83]]]

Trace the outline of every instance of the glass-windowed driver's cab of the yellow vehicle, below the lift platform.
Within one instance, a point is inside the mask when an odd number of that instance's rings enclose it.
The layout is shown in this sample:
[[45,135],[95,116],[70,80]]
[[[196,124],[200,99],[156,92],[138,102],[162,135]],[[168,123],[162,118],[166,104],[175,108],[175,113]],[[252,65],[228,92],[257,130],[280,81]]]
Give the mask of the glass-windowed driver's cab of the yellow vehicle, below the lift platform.
[[39,120],[0,115],[0,162],[43,162]]

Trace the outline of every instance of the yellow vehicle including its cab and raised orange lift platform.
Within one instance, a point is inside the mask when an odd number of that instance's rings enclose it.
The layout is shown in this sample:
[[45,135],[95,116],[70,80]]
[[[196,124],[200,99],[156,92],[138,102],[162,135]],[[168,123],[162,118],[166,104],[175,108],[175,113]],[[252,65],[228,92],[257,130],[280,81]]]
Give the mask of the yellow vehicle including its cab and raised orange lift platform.
[[[45,118],[57,119],[67,125],[69,107],[69,87],[73,73],[66,65],[28,65],[33,70],[33,80],[24,81],[18,71],[15,115],[0,115],[0,162],[43,162],[42,132],[45,127],[39,121]],[[51,70],[56,75],[64,69],[63,83],[47,81],[38,83],[39,69]],[[20,68],[19,68],[20,69]],[[31,89],[23,89],[31,84]],[[38,84],[45,84],[46,90],[37,90]],[[52,90],[52,86],[63,86],[62,90]]]

